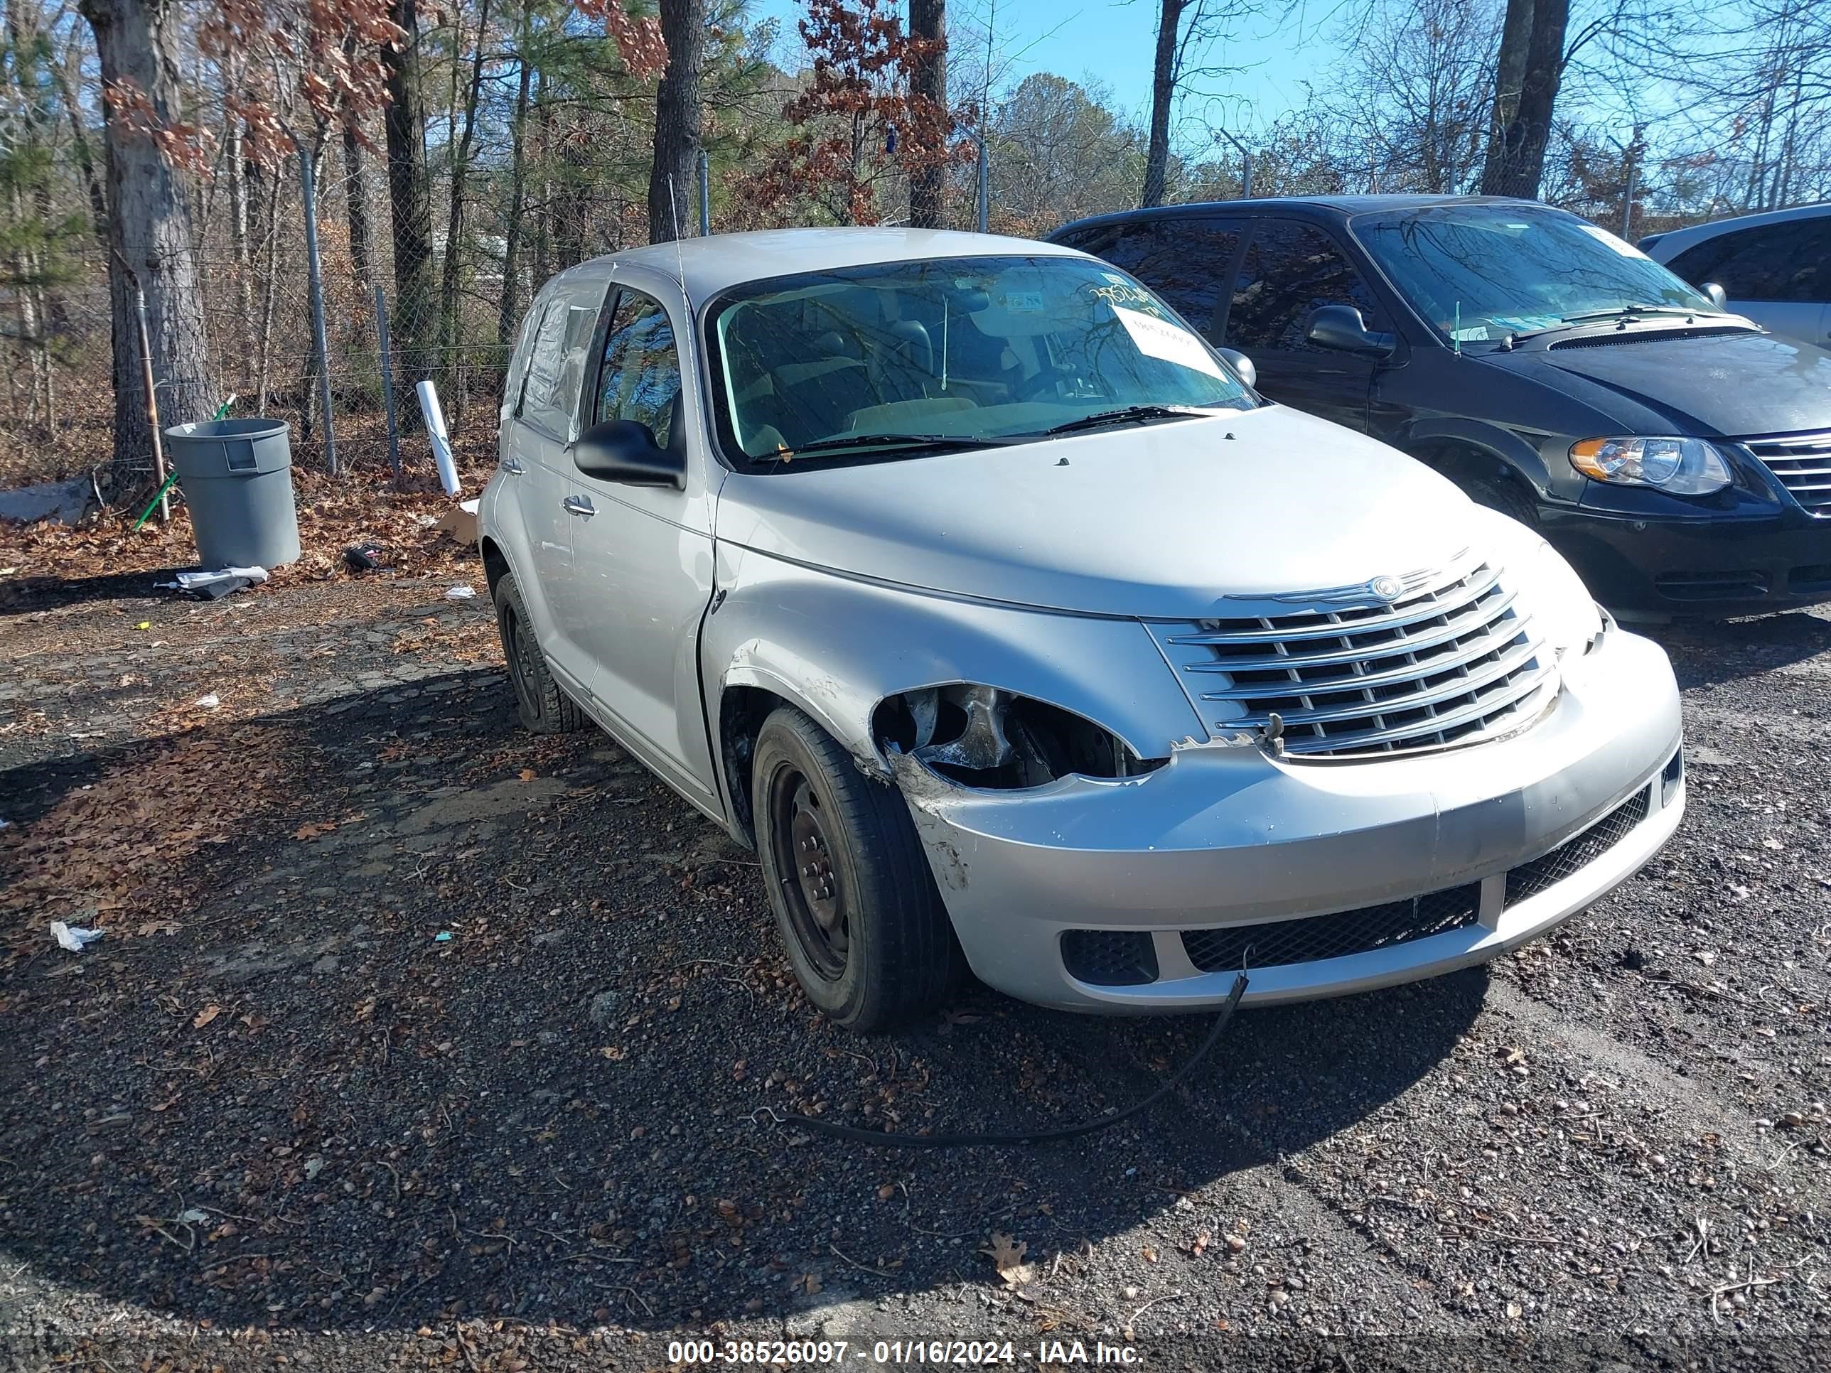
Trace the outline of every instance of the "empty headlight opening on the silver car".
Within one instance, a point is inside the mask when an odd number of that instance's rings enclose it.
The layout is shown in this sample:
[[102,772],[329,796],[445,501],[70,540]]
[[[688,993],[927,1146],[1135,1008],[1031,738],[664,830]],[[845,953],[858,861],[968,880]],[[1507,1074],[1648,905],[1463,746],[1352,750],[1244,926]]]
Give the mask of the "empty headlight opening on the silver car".
[[1139,758],[1071,710],[998,686],[925,686],[888,696],[872,716],[886,752],[910,754],[969,787],[1022,789],[1080,773],[1139,776],[1166,758]]

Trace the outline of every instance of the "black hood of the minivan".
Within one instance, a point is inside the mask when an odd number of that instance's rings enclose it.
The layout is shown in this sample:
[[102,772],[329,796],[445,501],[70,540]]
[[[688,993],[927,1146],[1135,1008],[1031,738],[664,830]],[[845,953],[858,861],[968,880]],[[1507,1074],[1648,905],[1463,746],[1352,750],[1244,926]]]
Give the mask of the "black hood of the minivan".
[[[1551,384],[1558,373],[1591,381],[1602,388],[1591,403],[1619,412],[1628,432],[1661,421],[1699,438],[1831,428],[1831,351],[1771,333],[1602,333],[1481,361]],[[1639,410],[1611,406],[1609,392]]]

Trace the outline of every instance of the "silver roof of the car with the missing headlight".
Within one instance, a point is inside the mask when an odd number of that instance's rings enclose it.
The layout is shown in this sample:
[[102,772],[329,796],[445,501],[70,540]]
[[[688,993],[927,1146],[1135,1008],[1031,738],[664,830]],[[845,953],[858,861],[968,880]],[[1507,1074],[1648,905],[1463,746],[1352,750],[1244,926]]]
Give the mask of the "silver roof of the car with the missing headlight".
[[930,258],[983,256],[1080,256],[1075,249],[1003,234],[965,234],[948,229],[762,229],[743,234],[681,238],[608,253],[571,267],[564,276],[599,276],[621,265],[646,267],[672,276],[694,304],[720,291],[828,267],[862,267],[873,262],[926,262]]

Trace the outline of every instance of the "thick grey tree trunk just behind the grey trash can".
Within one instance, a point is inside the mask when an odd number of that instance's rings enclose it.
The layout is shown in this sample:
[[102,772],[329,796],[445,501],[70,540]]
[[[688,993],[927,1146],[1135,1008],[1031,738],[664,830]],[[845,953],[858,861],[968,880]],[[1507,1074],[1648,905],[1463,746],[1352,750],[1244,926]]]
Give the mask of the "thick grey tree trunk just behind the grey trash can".
[[[178,86],[179,13],[174,0],[82,0],[95,31],[103,88],[132,86],[170,117]],[[135,355],[135,287],[146,293],[152,373],[161,423],[209,419],[203,291],[198,280],[190,200],[157,145],[108,110],[108,297],[114,324],[115,459],[152,454],[146,395]]]

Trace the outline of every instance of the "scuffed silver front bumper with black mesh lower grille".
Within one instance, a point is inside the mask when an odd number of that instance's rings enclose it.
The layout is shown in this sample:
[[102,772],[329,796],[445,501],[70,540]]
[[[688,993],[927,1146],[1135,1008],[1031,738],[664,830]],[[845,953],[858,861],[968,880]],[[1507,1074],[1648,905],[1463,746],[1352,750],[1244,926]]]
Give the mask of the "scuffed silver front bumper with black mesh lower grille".
[[1685,805],[1663,650],[1609,633],[1512,738],[1364,762],[1197,745],[980,791],[895,760],[972,970],[1075,1011],[1269,1005],[1428,978],[1626,881]]

